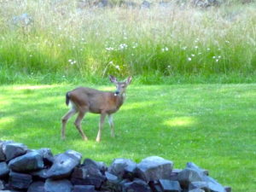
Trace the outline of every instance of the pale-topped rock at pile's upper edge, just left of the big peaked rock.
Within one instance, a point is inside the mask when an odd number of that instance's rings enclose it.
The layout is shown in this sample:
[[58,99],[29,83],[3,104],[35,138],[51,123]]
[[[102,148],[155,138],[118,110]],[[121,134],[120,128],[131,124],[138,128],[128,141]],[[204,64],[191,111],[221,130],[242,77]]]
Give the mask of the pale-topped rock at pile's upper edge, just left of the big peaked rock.
[[133,178],[136,173],[137,164],[128,159],[114,159],[108,172],[119,178]]

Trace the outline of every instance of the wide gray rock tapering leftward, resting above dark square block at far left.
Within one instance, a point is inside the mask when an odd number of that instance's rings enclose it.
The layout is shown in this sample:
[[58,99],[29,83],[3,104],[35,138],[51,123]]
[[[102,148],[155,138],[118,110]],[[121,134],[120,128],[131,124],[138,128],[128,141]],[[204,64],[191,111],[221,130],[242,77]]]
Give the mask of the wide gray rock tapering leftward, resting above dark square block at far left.
[[30,152],[9,161],[9,168],[14,172],[32,172],[44,168],[44,161],[38,152]]

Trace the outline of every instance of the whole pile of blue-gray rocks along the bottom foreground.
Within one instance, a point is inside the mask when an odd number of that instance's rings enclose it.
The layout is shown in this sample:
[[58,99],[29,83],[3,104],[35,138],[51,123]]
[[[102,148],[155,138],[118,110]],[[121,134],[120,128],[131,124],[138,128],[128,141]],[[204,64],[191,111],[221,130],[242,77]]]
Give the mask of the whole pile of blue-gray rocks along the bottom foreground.
[[115,159],[110,166],[73,150],[53,155],[49,148],[28,149],[0,141],[0,192],[229,192],[206,170],[188,163],[183,170],[151,156],[140,163]]

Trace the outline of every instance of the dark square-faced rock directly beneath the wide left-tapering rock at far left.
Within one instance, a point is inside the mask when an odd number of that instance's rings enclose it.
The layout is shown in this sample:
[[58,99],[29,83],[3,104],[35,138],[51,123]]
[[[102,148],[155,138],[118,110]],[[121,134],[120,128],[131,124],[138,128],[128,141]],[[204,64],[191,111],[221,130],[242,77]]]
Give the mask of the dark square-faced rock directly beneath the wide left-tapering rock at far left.
[[24,173],[10,172],[9,185],[14,189],[28,189],[32,176]]

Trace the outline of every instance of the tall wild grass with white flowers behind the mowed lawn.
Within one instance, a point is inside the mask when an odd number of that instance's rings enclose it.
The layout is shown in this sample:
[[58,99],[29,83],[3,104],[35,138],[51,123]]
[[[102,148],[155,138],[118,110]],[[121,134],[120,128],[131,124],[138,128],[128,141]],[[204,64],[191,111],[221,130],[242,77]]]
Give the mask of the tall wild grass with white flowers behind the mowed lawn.
[[[0,6],[0,82],[15,81],[19,73],[55,79],[108,73],[142,79],[252,77],[255,10],[255,4],[99,9],[79,8],[74,0],[8,1]],[[30,25],[14,21],[24,13],[31,16]]]

